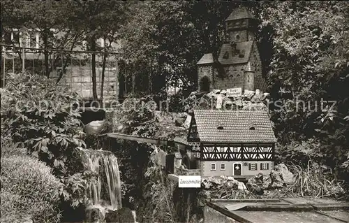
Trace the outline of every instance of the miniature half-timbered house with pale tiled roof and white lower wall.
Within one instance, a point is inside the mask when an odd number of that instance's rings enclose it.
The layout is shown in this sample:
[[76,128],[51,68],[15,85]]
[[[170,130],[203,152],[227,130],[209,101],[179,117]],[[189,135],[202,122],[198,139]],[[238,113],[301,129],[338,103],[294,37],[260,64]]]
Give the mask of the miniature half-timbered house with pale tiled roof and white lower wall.
[[266,110],[194,110],[188,132],[202,178],[251,178],[274,168],[276,137]]

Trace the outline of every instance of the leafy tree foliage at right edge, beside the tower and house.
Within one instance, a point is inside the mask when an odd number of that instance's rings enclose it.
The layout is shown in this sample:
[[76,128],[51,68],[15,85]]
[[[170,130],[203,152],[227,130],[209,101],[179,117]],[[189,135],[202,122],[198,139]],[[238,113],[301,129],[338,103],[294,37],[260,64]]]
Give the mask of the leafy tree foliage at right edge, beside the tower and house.
[[280,143],[314,138],[320,146],[313,159],[348,173],[349,3],[262,6],[261,29],[273,39],[269,82],[273,100],[279,101],[272,119]]

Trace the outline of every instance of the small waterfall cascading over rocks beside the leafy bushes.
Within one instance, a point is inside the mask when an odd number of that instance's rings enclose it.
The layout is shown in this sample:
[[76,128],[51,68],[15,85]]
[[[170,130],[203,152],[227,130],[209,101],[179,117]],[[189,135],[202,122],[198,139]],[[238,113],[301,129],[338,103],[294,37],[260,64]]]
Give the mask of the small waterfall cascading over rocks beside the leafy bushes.
[[109,151],[80,149],[82,164],[94,177],[87,187],[91,206],[118,210],[121,204],[121,182],[117,157]]

